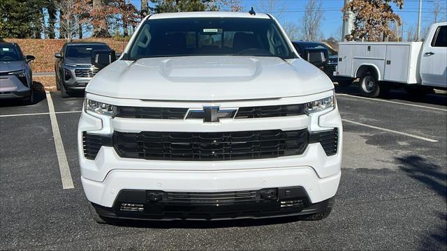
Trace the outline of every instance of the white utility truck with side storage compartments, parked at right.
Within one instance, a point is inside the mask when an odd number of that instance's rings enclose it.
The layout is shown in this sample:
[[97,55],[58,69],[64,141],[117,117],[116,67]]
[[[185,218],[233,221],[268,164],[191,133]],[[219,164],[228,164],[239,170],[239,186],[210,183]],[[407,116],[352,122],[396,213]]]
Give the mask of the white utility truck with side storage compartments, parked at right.
[[447,89],[447,22],[432,24],[424,43],[339,43],[337,75],[360,77],[360,92],[369,98],[393,86],[411,94]]

